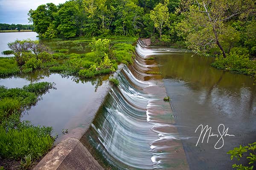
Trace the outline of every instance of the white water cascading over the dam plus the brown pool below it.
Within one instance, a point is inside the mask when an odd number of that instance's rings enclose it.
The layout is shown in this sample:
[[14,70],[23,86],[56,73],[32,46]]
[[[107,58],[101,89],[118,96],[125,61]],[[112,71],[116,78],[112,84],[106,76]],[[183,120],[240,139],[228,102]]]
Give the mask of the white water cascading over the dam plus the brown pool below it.
[[[139,41],[136,52],[134,64],[123,68],[120,85],[111,89],[83,136],[90,152],[113,169],[232,170],[236,161],[227,151],[256,141],[253,79],[212,68],[213,58],[186,51]],[[147,74],[159,71],[148,57],[155,57],[163,82],[159,75]],[[163,85],[171,107],[161,102]],[[234,136],[224,137],[219,149],[216,136],[195,146],[201,124],[214,134],[223,124]]]

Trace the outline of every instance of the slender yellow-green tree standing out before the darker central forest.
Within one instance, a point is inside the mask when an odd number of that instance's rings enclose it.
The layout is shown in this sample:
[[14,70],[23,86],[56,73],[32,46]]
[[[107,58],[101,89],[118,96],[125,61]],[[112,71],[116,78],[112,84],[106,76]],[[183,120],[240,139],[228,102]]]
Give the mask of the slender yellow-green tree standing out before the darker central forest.
[[169,0],[165,0],[165,4],[158,3],[154,10],[150,12],[150,18],[154,22],[154,27],[159,30],[160,40],[162,31],[165,26],[169,26],[169,12],[167,4]]

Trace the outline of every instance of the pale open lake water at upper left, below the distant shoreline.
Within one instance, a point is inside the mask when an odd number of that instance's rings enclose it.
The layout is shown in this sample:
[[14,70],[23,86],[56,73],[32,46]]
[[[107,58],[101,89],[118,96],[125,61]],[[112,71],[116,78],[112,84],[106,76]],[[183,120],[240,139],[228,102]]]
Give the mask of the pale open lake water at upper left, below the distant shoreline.
[[8,48],[7,43],[14,42],[15,40],[25,40],[25,39],[31,39],[31,40],[39,40],[38,37],[36,37],[38,34],[36,32],[3,32],[0,33],[0,57],[9,57],[12,55],[3,55],[2,52],[6,50],[10,50]]

